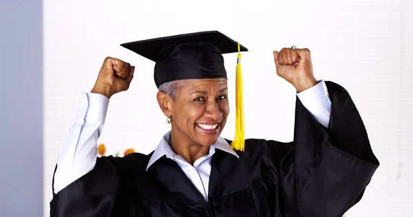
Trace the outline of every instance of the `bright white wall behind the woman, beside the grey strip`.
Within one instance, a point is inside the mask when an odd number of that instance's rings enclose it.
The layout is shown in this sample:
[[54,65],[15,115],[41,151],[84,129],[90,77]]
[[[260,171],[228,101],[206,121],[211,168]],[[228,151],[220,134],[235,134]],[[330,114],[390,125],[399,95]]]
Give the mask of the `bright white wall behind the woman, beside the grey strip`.
[[[106,56],[136,66],[129,91],[110,100],[100,142],[109,154],[149,153],[169,130],[158,109],[154,63],[121,43],[219,30],[243,54],[246,137],[291,141],[295,90],[275,73],[272,51],[308,47],[317,79],[352,96],[381,166],[346,216],[413,214],[413,3],[408,1],[43,1],[44,213],[59,147]],[[225,56],[231,111],[236,54]],[[233,73],[234,72],[234,73]],[[231,113],[224,137],[233,137]]]

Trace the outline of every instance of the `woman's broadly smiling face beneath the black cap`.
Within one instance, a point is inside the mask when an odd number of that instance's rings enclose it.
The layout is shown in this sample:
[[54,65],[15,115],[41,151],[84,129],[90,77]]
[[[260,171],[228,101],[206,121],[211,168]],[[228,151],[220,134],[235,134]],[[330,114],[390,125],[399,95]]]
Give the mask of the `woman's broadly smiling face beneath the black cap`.
[[215,144],[229,115],[225,78],[188,80],[171,102],[172,133],[189,144]]

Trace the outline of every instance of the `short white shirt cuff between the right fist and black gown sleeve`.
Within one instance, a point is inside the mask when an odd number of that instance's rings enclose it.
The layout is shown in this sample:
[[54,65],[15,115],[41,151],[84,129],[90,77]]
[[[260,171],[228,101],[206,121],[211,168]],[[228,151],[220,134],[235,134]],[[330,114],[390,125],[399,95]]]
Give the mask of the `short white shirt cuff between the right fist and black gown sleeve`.
[[328,128],[330,123],[331,101],[326,82],[321,80],[314,87],[306,89],[297,96],[306,109],[317,119],[319,124]]

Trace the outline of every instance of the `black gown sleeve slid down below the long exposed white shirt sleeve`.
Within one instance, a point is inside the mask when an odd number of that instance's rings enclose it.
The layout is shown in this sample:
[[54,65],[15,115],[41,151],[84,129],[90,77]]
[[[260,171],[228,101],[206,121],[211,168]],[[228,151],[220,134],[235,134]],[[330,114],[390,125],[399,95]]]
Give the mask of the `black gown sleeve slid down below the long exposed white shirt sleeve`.
[[[111,216],[120,187],[113,161],[120,158],[98,157],[93,170],[67,185],[50,202],[50,216]],[[53,180],[54,181],[54,180]]]

